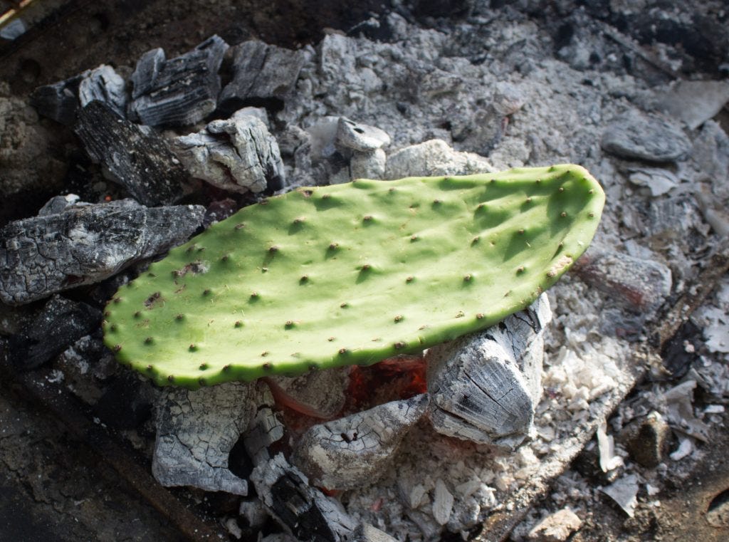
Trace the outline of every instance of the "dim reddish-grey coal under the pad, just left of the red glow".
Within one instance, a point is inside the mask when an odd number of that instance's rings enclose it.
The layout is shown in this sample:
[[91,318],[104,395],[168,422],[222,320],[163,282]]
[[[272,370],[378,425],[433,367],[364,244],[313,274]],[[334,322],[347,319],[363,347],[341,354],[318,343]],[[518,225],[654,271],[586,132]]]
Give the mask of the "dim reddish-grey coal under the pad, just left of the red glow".
[[349,370],[338,367],[301,376],[270,376],[266,382],[279,404],[308,416],[329,419],[344,406]]

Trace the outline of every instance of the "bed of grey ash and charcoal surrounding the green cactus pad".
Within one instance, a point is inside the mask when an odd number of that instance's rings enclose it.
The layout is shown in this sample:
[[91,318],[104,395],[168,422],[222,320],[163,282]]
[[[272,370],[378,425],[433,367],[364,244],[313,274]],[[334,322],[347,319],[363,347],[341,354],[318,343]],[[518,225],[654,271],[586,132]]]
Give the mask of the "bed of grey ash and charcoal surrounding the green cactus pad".
[[[160,484],[235,495],[219,517],[233,538],[589,536],[597,503],[655,513],[725,423],[718,3],[676,8],[673,43],[650,34],[650,1],[458,4],[457,18],[398,4],[299,50],[211,36],[38,88],[34,109],[1,98],[18,131],[42,140],[42,115],[83,150],[63,195],[0,232],[6,362],[122,430]],[[623,34],[621,17],[643,22]],[[695,18],[716,34],[703,48],[682,38]],[[3,147],[15,174],[17,148]],[[101,344],[117,287],[265,195],[562,162],[607,193],[593,246],[482,333],[369,369],[195,392],[152,387]]]

